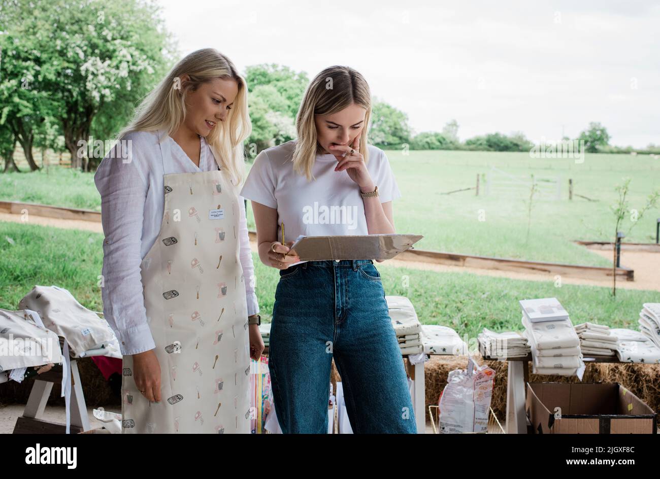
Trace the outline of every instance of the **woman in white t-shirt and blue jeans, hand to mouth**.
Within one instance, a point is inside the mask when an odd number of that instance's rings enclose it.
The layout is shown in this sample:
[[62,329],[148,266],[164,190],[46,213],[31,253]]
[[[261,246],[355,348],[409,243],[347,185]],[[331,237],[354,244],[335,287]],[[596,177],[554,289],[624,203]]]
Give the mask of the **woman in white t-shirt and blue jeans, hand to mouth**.
[[354,432],[416,432],[373,261],[301,262],[278,235],[282,223],[292,239],[395,233],[391,202],[401,193],[383,151],[367,144],[370,113],[360,73],[321,71],[304,94],[298,140],[259,153],[241,191],[252,200],[261,261],[281,270],[269,369],[285,433],[327,432],[333,358]]

